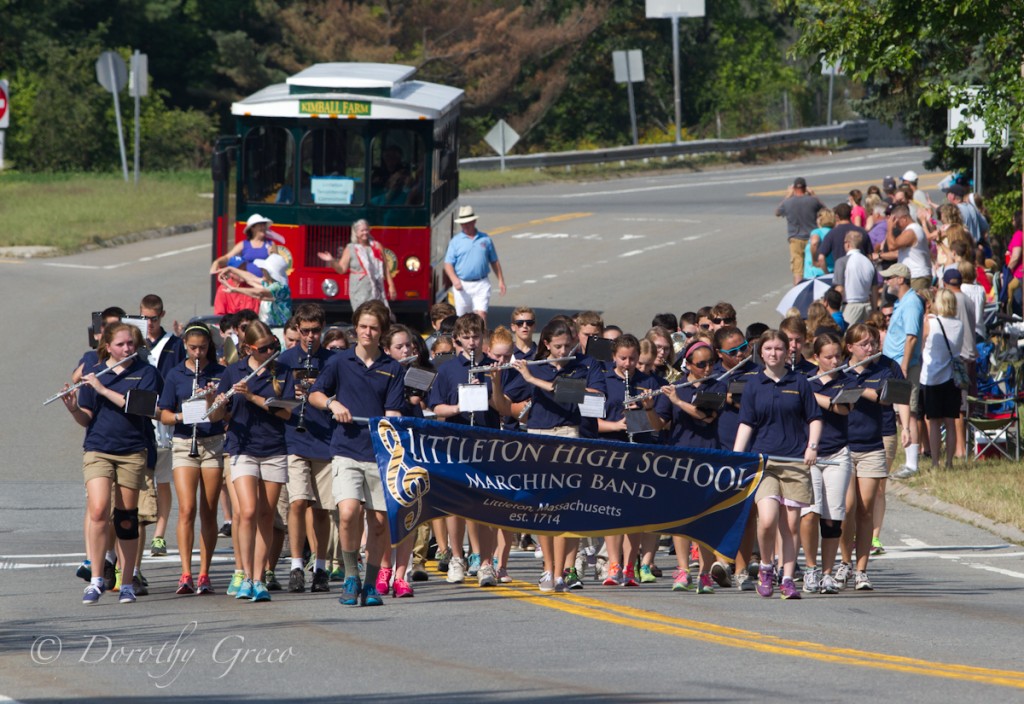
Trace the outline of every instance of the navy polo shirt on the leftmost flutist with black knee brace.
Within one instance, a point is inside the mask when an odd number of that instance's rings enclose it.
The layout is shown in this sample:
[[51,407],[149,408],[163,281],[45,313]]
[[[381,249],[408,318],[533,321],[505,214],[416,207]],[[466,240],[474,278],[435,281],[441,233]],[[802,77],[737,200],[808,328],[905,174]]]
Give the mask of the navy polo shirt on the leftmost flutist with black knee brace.
[[[85,376],[99,373],[105,368],[106,363],[99,362],[82,371]],[[164,388],[160,372],[138,357],[131,360],[124,371],[105,373],[99,378],[99,382],[119,394],[127,394],[132,389],[159,394]],[[83,384],[78,390],[78,405],[92,413],[82,445],[87,452],[130,454],[156,448],[152,419],[126,413],[124,408],[114,405],[87,384]]]

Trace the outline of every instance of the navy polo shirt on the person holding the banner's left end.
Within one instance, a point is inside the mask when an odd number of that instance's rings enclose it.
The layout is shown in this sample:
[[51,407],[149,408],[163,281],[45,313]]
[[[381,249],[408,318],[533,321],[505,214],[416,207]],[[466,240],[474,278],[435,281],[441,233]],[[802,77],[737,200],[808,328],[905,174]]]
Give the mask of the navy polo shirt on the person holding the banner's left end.
[[[388,410],[401,412],[406,402],[403,379],[401,364],[384,352],[367,366],[355,356],[355,349],[350,348],[331,356],[309,391],[337,396],[353,416],[375,417]],[[331,435],[331,454],[357,461],[376,461],[370,427],[336,423]]]

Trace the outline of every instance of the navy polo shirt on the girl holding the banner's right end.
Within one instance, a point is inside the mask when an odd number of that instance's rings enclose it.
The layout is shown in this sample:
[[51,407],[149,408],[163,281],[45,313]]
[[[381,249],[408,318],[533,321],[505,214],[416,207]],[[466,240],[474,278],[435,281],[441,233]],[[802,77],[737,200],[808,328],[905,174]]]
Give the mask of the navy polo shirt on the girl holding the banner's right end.
[[750,377],[739,402],[739,422],[754,429],[750,452],[803,457],[807,424],[820,417],[810,382],[792,369],[778,383],[763,369]]

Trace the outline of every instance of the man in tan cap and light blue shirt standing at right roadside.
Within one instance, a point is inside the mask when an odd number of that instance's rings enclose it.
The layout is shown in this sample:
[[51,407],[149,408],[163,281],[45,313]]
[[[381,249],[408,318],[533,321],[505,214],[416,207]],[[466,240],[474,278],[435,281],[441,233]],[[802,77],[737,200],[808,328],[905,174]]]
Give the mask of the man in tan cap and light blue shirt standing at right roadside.
[[910,421],[903,428],[902,437],[906,464],[893,475],[901,479],[918,472],[921,451],[918,419],[921,417],[921,336],[925,324],[925,302],[910,288],[910,269],[906,264],[893,264],[882,272],[882,278],[886,280],[889,293],[897,298],[882,353],[899,364],[903,377],[912,385]]

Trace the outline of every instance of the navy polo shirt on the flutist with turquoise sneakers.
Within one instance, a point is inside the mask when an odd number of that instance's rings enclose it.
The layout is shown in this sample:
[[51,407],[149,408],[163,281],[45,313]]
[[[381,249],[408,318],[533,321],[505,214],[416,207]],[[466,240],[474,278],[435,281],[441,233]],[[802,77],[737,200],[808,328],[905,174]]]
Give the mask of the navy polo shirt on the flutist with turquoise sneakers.
[[[220,378],[217,393],[227,393],[252,372],[249,357],[228,365]],[[274,380],[278,382],[276,389]],[[279,358],[268,364],[258,377],[249,380],[249,390],[263,398],[295,398],[294,383],[292,370],[282,364]],[[255,457],[288,452],[285,445],[285,422],[266,410],[262,404],[251,403],[242,394],[234,394],[228,399],[228,412],[231,417],[227,422],[225,452],[232,456],[251,454]]]

